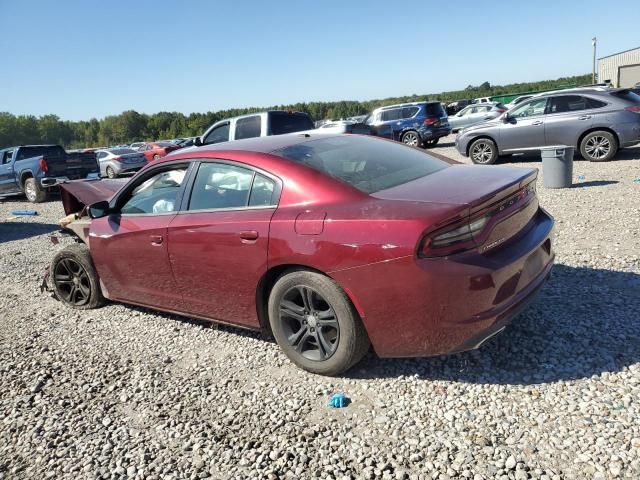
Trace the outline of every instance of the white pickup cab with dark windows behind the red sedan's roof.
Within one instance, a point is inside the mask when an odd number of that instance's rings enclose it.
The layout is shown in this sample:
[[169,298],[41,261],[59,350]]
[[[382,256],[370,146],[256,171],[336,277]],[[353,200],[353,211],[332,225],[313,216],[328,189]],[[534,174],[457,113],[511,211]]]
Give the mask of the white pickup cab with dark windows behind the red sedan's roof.
[[196,144],[211,145],[230,140],[302,132],[314,128],[313,120],[306,113],[272,110],[220,120],[211,125],[200,141],[196,140]]

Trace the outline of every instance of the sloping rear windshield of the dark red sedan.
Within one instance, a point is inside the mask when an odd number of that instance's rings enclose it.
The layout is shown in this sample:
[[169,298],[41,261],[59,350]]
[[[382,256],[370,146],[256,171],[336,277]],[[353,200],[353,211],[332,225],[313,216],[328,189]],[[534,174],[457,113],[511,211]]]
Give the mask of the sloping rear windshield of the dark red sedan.
[[370,137],[331,137],[272,152],[341,180],[364,193],[386,190],[449,165],[399,143]]

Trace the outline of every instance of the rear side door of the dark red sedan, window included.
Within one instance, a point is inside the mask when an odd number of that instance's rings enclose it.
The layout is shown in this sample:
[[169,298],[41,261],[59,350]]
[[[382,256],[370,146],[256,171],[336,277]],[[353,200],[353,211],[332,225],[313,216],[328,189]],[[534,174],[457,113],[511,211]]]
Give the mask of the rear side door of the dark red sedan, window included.
[[256,286],[267,270],[278,182],[231,163],[203,162],[186,210],[169,226],[169,258],[188,313],[259,326]]

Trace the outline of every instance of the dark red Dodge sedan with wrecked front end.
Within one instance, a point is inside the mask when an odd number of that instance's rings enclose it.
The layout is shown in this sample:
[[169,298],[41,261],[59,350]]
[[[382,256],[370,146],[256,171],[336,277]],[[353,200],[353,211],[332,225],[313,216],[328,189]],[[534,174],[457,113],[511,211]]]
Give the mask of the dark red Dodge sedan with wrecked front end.
[[67,225],[78,244],[55,255],[53,290],[76,308],[107,298],[270,330],[327,375],[370,345],[380,357],[473,349],[551,270],[536,176],[365,136],[177,152],[115,193],[104,180],[61,185],[67,214],[91,205],[91,219]]

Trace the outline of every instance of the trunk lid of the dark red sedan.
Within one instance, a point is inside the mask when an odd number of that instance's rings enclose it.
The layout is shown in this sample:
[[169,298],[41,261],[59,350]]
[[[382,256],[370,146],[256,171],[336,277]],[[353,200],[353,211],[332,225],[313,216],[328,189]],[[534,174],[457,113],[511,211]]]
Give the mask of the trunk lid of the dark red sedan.
[[515,237],[536,215],[537,176],[537,170],[530,168],[456,165],[372,196],[451,205],[452,228],[461,223],[455,215],[459,210],[453,207],[468,207],[467,222],[487,218],[483,229],[474,235],[475,244],[484,253]]

